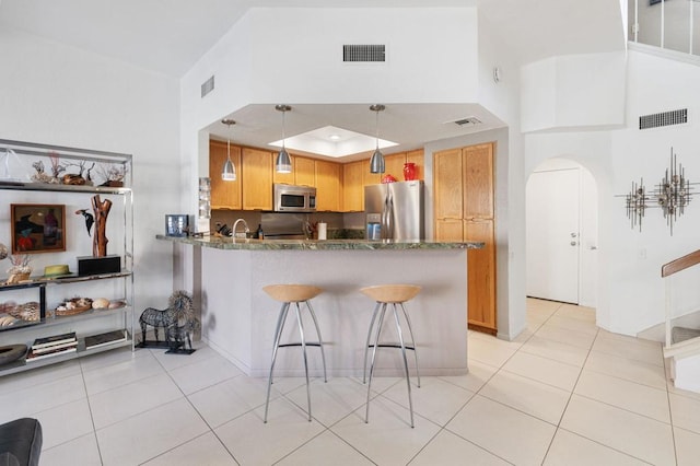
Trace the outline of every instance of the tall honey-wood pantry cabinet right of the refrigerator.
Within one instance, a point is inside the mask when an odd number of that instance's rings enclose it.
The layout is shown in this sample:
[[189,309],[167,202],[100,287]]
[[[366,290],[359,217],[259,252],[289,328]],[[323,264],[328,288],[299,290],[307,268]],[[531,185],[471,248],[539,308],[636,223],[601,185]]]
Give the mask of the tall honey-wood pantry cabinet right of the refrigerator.
[[493,143],[433,154],[435,240],[474,241],[467,252],[468,325],[497,333]]

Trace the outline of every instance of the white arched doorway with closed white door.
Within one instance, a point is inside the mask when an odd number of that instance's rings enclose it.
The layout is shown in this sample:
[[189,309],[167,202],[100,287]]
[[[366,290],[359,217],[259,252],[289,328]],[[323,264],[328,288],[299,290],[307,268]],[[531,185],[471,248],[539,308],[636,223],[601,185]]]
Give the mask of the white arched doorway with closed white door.
[[526,294],[597,304],[597,187],[568,159],[544,161],[526,185]]

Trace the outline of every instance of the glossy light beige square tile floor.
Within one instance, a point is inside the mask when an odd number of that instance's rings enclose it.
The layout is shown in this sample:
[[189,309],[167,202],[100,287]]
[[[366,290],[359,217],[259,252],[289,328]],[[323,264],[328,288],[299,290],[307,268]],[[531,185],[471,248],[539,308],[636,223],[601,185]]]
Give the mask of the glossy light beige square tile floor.
[[700,395],[667,380],[661,345],[595,326],[591,308],[528,300],[517,341],[469,333],[470,373],[422,377],[408,424],[401,378],[266,380],[206,346],[115,350],[0,377],[0,421],[36,417],[42,464],[697,465]]

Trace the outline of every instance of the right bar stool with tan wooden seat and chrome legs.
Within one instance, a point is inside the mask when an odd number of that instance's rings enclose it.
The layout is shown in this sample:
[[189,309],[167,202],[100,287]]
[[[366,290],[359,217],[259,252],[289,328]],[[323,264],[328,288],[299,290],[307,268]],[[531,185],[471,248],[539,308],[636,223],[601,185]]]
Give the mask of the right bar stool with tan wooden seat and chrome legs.
[[[368,384],[368,405],[366,412],[364,417],[364,422],[368,422],[370,419],[370,392],[372,389],[372,376],[374,374],[374,361],[376,359],[376,349],[381,348],[400,348],[404,357],[404,372],[406,374],[406,385],[408,387],[408,406],[411,412],[411,428],[413,427],[413,401],[411,399],[411,382],[408,373],[408,359],[406,358],[406,350],[413,351],[413,358],[416,360],[416,376],[418,378],[418,386],[420,387],[420,374],[418,372],[418,351],[416,351],[416,338],[413,337],[413,329],[411,328],[411,321],[408,317],[408,313],[406,312],[406,307],[404,303],[415,298],[420,291],[420,287],[416,284],[380,284],[374,287],[365,287],[360,290],[366,296],[373,299],[376,302],[376,306],[374,306],[374,313],[372,314],[372,322],[370,323],[370,329],[368,331],[368,341],[364,347],[364,368],[362,370],[362,383],[365,383],[365,375],[368,371],[368,349],[372,347],[372,364],[370,365],[370,382]],[[397,343],[381,343],[380,336],[382,334],[382,326],[384,324],[384,315],[386,313],[386,307],[388,304],[392,304],[392,310],[394,311],[394,322],[396,323],[396,331],[398,334],[399,342]],[[408,331],[411,336],[410,345],[406,345],[404,342],[404,333],[401,329],[401,324],[399,321],[398,312],[396,311],[396,305],[401,307],[404,312],[404,318],[406,319],[406,324],[408,325]],[[374,324],[377,321],[376,333],[374,334],[374,343],[370,343],[372,339],[372,333],[374,330]]]

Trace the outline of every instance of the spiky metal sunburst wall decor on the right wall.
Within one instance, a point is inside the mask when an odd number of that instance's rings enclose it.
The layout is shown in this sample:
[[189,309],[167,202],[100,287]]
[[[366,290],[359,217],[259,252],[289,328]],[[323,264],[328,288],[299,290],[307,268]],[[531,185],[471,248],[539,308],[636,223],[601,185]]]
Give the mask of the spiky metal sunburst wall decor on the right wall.
[[695,185],[697,185],[697,183],[690,183],[688,178],[686,178],[686,171],[682,165],[678,163],[674,148],[670,148],[669,166],[666,168],[666,173],[661,183],[656,185],[651,195],[646,194],[643,179],[640,179],[639,185],[632,182],[632,189],[629,194],[625,195],[627,217],[630,219],[632,228],[639,225],[639,231],[641,232],[644,211],[649,208],[658,207],[662,209],[666,224],[673,236],[674,223],[678,220],[678,217],[685,213],[685,208],[690,203],[690,199],[696,194]]

